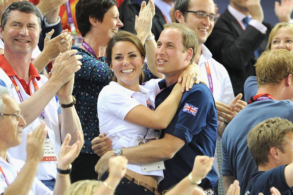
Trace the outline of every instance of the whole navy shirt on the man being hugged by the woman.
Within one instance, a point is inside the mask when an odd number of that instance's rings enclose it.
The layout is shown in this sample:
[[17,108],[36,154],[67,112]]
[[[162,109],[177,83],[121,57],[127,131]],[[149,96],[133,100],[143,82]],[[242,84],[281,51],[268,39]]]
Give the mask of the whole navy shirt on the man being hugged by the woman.
[[[165,79],[159,82],[163,91],[156,96],[156,108],[168,97],[175,84],[166,87]],[[195,156],[214,156],[217,108],[212,93],[205,84],[195,84],[189,92],[183,94],[176,115],[168,127],[162,130],[161,137],[165,133],[183,139],[185,145],[173,158],[165,161],[166,170],[164,179],[159,184],[159,191],[169,189],[186,177],[192,171]],[[217,182],[218,175],[213,167],[200,187],[214,189]]]

